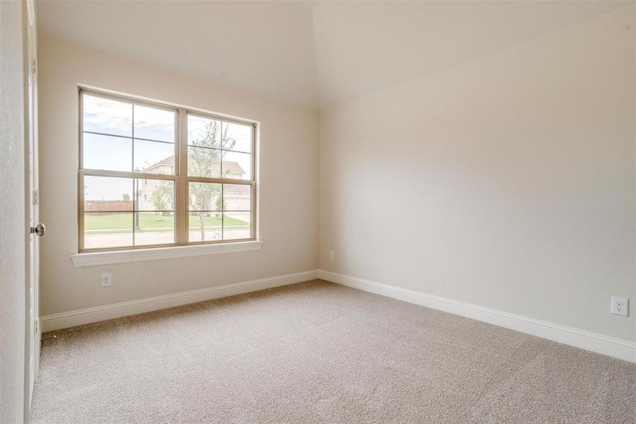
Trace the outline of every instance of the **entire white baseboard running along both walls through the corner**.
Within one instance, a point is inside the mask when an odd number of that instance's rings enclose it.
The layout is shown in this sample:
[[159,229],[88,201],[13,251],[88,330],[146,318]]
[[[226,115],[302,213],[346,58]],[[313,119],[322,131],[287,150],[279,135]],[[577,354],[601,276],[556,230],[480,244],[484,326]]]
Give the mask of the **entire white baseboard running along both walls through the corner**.
[[153,298],[130,300],[112,305],[89,307],[82,310],[61,312],[59,314],[44,315],[40,318],[41,329],[42,332],[64,329],[71,326],[104,321],[105,319],[126,317],[128,315],[187,305],[203,300],[224,298],[226,296],[239,295],[241,293],[278,287],[280,285],[301,283],[302,281],[308,281],[314,278],[322,278],[332,283],[347,285],[389,298],[431,307],[436,310],[450,312],[451,314],[476,319],[481,322],[487,322],[488,324],[503,326],[526,334],[532,334],[532,336],[547,338],[548,340],[557,341],[569,346],[575,346],[577,348],[586,349],[587,351],[593,351],[636,363],[636,343],[632,341],[604,336],[590,331],[541,321],[540,319],[523,317],[522,315],[510,314],[509,312],[471,305],[466,302],[459,302],[436,295],[428,295],[416,290],[376,283],[374,281],[364,280],[363,278],[346,276],[322,269],[260,278],[259,280],[243,281],[241,283],[219,285],[200,290],[189,290],[170,295],[155,296]]

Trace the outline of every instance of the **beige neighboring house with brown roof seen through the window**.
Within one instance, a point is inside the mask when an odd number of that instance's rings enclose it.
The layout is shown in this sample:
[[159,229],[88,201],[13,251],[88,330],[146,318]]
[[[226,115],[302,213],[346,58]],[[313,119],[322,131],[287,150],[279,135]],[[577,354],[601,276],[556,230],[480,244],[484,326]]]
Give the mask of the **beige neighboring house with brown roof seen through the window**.
[[[218,161],[216,164],[210,166],[211,169],[218,169]],[[222,161],[223,174],[226,178],[243,179],[245,170],[239,165],[239,163],[231,160]],[[160,162],[151,165],[150,167],[140,170],[140,172],[146,172],[149,174],[172,174],[174,173],[174,156],[160,160]],[[166,184],[158,179],[139,179],[138,187],[135,187],[135,191],[138,193],[138,210],[139,211],[152,211],[155,210],[155,205],[152,203],[152,194],[155,192],[160,184]],[[212,196],[211,196],[212,197]],[[171,199],[172,200],[172,199]],[[250,186],[237,185],[237,184],[225,184],[224,187],[224,200],[226,209],[232,211],[249,211],[251,208],[250,202]],[[214,208],[215,199],[210,198],[208,202],[210,208]],[[174,205],[167,204],[167,209],[174,210]],[[239,218],[237,216],[236,218]],[[241,219],[241,218],[239,218]]]

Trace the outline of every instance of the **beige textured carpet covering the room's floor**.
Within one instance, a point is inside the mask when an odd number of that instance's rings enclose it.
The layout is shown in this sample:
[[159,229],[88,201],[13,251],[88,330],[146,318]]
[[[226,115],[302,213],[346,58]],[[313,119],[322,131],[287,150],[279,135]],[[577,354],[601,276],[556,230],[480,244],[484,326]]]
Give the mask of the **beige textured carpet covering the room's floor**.
[[635,364],[324,281],[55,334],[32,423],[636,423]]

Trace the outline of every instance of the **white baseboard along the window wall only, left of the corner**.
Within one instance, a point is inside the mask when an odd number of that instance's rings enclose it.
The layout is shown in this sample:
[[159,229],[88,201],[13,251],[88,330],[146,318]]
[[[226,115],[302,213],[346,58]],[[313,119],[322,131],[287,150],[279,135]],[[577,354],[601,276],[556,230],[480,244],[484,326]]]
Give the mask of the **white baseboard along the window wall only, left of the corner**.
[[71,326],[90,324],[91,322],[104,321],[128,315],[142,314],[162,310],[167,307],[188,305],[189,303],[202,302],[203,300],[224,298],[226,296],[239,295],[265,288],[278,287],[280,285],[301,283],[318,278],[318,271],[304,271],[289,273],[282,276],[260,278],[259,280],[243,281],[241,283],[218,285],[216,287],[189,290],[170,295],[155,296],[128,302],[113,303],[88,307],[82,310],[61,312],[59,314],[44,315],[41,317],[42,332],[65,329]]

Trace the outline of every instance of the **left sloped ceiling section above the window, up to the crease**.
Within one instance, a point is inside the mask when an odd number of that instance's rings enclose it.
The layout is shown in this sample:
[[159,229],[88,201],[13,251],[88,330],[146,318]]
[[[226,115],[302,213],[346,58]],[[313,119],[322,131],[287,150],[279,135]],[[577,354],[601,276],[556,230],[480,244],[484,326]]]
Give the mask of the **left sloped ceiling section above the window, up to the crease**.
[[[1,1],[1,0],[0,0]],[[39,1],[40,33],[314,106],[311,8],[298,2]]]

